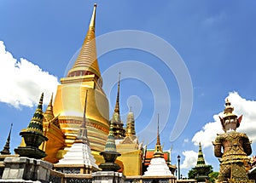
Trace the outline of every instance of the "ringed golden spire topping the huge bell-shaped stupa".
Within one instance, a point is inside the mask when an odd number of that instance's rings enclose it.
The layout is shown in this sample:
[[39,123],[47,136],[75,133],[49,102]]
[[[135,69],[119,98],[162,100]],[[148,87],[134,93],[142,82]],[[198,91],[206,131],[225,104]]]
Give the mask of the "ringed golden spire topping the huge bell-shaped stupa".
[[84,43],[79,56],[72,69],[68,71],[67,77],[79,77],[95,74],[97,78],[101,78],[101,72],[99,70],[96,55],[95,21],[96,3],[94,4],[93,13],[90,19],[90,26],[84,38]]

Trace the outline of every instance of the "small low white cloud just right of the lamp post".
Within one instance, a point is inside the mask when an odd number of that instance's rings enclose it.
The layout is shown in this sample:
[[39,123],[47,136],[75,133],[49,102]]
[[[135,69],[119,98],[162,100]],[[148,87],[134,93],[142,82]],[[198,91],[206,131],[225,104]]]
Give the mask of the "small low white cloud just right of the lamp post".
[[194,151],[185,151],[183,152],[184,161],[180,165],[181,169],[190,169],[191,167],[195,167],[197,162],[198,153]]

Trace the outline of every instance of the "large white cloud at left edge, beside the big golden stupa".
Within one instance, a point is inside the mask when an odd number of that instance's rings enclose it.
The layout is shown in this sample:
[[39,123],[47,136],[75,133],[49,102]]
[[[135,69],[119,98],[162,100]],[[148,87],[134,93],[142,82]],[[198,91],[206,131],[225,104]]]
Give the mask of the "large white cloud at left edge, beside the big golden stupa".
[[16,108],[37,105],[42,92],[48,102],[58,85],[57,77],[39,66],[26,59],[16,60],[6,51],[3,41],[0,41],[0,78],[0,102]]

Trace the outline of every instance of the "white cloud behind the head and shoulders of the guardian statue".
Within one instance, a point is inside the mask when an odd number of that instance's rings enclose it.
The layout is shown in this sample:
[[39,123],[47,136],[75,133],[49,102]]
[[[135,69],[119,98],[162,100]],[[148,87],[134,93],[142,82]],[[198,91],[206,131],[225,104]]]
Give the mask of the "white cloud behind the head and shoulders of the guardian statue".
[[[256,126],[253,124],[256,121],[256,101],[245,100],[241,98],[236,92],[232,92],[227,97],[231,106],[234,106],[234,113],[237,116],[243,115],[241,125],[237,129],[239,132],[246,133],[250,140],[256,140]],[[223,112],[220,112],[213,116],[214,122],[207,123],[199,132],[197,132],[192,142],[198,145],[201,142],[203,147],[212,146],[212,141],[215,140],[217,133],[224,133],[218,116],[222,116]]]

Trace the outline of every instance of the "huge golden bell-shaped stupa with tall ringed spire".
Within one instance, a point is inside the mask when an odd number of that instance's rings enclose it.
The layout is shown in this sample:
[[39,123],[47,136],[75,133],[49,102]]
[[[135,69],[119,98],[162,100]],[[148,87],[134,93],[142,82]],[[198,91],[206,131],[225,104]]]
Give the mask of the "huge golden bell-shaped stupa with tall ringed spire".
[[[102,152],[109,131],[108,99],[102,89],[102,77],[96,55],[96,4],[90,19],[89,29],[73,67],[67,77],[61,78],[54,102],[54,115],[58,116],[61,130],[65,134],[65,149],[58,152],[61,158],[73,145],[79,133],[84,115],[84,97],[87,99],[87,130],[90,148]],[[97,135],[96,135],[97,134]]]

